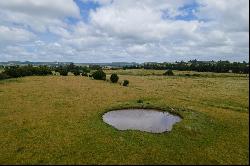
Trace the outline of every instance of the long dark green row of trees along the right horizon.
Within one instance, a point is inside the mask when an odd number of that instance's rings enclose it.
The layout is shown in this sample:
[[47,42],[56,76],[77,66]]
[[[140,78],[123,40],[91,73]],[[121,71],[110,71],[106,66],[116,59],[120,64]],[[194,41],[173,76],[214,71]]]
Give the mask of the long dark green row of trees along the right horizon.
[[247,62],[229,62],[229,61],[197,61],[175,63],[145,63],[143,65],[125,66],[123,69],[155,69],[155,70],[181,70],[181,71],[198,71],[198,72],[217,72],[217,73],[249,73],[249,63]]

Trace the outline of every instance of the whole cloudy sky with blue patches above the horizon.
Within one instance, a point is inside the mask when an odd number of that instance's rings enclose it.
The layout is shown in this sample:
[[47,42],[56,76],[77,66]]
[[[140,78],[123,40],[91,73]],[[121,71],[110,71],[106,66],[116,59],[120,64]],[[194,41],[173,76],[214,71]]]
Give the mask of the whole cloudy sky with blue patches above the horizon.
[[0,61],[249,61],[249,0],[1,0]]

